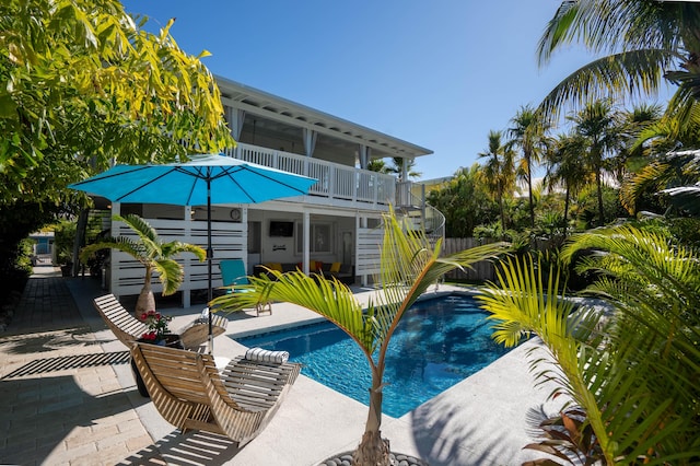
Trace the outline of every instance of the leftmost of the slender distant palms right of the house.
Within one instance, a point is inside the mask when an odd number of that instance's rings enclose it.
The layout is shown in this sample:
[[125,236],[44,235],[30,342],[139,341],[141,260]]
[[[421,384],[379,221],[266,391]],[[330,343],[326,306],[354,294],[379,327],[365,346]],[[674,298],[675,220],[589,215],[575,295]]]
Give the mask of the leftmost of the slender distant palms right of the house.
[[504,198],[515,190],[515,156],[513,150],[504,144],[502,139],[502,131],[489,131],[489,145],[478,155],[480,159],[487,159],[482,170],[483,178],[499,203],[501,229],[505,232]]

